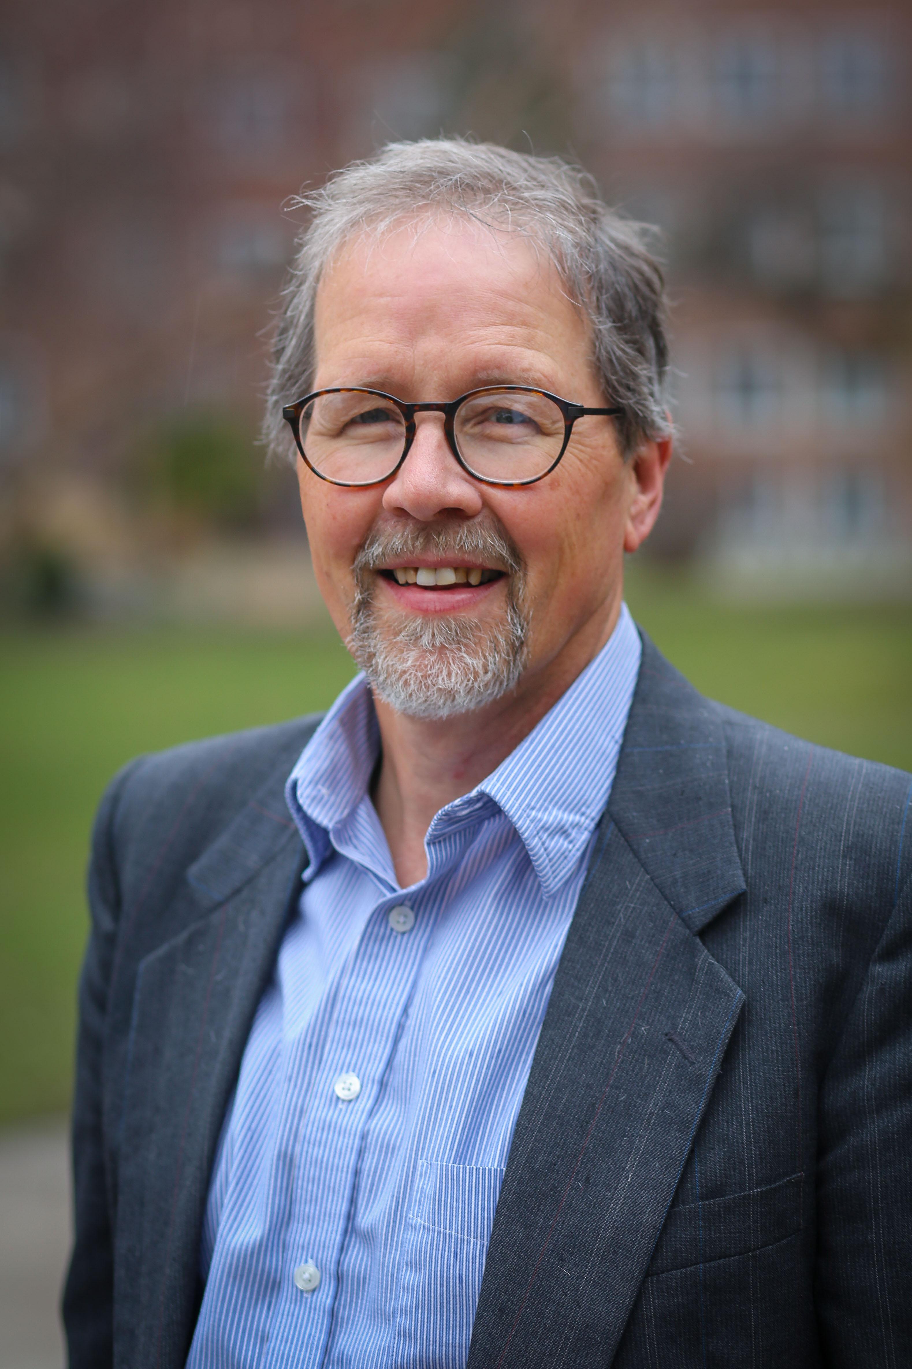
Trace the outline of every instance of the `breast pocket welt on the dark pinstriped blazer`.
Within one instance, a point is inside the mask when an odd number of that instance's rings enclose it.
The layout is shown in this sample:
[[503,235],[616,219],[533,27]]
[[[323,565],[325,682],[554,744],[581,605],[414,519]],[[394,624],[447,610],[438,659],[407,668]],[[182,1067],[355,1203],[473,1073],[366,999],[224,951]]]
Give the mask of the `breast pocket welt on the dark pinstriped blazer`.
[[794,1235],[801,1228],[803,1179],[789,1175],[730,1198],[670,1207],[647,1275],[745,1255]]

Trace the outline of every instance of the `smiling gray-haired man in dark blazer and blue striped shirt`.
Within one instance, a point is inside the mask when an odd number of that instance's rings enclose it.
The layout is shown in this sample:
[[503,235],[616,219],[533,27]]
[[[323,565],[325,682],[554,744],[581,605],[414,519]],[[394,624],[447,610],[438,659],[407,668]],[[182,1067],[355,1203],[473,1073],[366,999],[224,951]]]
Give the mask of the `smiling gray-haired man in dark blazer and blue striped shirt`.
[[103,802],[71,1364],[909,1364],[909,778],[633,627],[658,268],[494,146],[308,203],[268,422],[364,675]]

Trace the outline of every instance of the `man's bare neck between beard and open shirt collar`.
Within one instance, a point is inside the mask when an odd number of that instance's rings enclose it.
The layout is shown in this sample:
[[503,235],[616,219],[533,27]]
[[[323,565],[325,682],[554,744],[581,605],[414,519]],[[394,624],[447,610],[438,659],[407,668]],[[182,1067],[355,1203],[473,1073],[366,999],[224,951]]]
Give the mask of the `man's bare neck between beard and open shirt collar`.
[[381,763],[373,804],[390,845],[402,888],[428,872],[424,838],[433,816],[470,793],[515,750],[608,641],[621,601],[608,623],[567,643],[573,650],[537,671],[515,690],[472,713],[447,719],[409,717],[375,700]]

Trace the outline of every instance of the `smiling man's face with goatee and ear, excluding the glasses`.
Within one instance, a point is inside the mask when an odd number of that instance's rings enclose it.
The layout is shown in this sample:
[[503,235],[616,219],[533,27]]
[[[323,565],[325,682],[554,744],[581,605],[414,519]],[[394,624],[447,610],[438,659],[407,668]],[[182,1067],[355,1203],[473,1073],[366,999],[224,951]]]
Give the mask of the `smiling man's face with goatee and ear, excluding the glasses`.
[[[459,222],[347,244],[319,290],[316,360],[313,389],[369,386],[414,402],[528,385],[611,402],[585,318],[546,255],[518,234]],[[375,691],[403,712],[447,716],[529,691],[556,698],[610,635],[622,552],[652,526],[667,455],[652,460],[658,494],[644,493],[644,463],[625,464],[611,420],[587,416],[551,475],[498,489],[459,467],[442,415],[420,413],[416,426],[403,465],[380,486],[332,486],[298,461],[336,627]],[[399,583],[443,568],[457,583]]]

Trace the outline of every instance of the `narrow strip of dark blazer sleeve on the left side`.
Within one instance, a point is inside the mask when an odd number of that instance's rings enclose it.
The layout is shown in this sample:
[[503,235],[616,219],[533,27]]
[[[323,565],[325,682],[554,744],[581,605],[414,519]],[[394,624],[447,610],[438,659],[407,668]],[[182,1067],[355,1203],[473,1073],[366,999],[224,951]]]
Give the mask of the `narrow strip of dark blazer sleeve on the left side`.
[[79,980],[72,1105],[75,1242],[63,1292],[70,1369],[107,1369],[113,1362],[113,1213],[104,1147],[103,1058],[120,914],[116,816],[126,784],[141,763],[142,757],[133,761],[108,786],[92,838],[92,925]]

